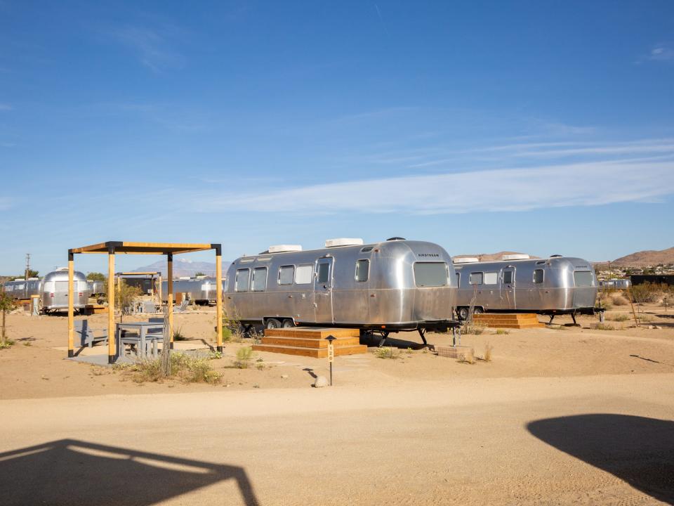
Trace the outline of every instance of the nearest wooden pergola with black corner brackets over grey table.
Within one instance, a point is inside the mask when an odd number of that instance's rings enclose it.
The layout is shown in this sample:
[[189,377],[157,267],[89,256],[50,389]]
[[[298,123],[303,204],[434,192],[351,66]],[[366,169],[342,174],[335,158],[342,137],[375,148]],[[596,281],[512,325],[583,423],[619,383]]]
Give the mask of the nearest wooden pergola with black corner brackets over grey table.
[[169,305],[169,334],[173,348],[173,255],[199,251],[216,250],[216,342],[218,351],[223,351],[223,262],[222,246],[219,244],[190,244],[176,242],[121,242],[107,241],[91,246],[68,249],[68,356],[74,356],[74,277],[75,254],[107,254],[107,361],[114,363],[117,342],[114,335],[114,256],[116,254],[165,254],[168,259],[166,270],[167,299]]

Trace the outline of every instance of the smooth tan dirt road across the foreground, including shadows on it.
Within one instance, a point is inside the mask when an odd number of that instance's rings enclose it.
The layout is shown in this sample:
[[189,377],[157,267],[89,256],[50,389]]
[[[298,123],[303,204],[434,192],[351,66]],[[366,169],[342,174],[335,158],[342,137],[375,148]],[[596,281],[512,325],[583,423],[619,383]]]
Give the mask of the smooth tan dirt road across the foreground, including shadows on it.
[[674,502],[674,374],[0,401],[4,505]]

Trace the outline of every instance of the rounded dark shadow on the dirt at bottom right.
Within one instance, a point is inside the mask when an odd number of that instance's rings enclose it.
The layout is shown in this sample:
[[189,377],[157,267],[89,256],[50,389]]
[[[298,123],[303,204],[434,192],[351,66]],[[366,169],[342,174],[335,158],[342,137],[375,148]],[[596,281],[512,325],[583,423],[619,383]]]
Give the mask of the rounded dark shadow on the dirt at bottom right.
[[657,500],[674,503],[674,422],[628,415],[536,420],[529,432]]

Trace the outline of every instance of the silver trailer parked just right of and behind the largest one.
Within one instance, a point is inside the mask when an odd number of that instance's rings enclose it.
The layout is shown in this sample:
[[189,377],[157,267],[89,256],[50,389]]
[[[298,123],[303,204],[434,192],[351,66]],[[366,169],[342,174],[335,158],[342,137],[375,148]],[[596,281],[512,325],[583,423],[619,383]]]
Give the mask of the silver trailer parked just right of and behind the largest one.
[[504,255],[501,261],[454,259],[458,281],[457,312],[520,312],[549,315],[594,314],[597,277],[587,260],[554,255],[531,259],[529,255]]

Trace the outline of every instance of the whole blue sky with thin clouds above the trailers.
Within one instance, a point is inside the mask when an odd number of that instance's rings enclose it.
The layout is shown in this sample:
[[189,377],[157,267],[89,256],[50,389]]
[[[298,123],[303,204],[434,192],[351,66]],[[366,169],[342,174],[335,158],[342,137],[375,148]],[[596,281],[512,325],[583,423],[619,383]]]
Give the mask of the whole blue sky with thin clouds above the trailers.
[[0,47],[0,273],[104,240],[674,245],[670,1],[0,0]]

